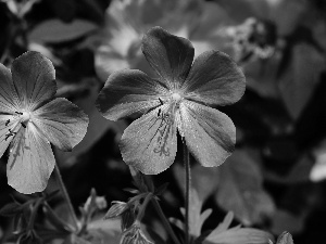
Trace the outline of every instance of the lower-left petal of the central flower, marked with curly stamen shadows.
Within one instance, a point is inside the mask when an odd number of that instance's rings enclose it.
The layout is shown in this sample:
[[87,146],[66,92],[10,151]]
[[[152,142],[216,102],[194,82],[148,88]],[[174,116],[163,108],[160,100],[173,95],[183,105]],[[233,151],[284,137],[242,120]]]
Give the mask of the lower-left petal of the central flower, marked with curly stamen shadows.
[[164,106],[131,123],[121,140],[124,162],[147,175],[164,171],[173,164],[176,155],[175,119],[162,114]]

